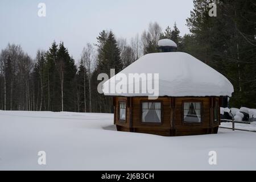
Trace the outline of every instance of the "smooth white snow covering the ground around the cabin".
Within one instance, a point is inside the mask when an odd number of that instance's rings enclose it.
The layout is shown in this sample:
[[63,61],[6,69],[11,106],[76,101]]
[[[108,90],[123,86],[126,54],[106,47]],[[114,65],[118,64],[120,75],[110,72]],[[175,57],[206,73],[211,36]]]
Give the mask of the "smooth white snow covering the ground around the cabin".
[[246,131],[160,137],[115,131],[113,114],[0,110],[2,170],[255,170],[255,154],[256,133]]

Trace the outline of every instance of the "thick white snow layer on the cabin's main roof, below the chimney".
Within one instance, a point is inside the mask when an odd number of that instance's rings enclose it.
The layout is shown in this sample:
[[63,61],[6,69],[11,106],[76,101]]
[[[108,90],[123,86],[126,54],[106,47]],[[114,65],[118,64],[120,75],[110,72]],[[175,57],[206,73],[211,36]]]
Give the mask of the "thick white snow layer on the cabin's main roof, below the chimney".
[[[150,53],[142,56],[129,67],[104,83],[103,92],[109,96],[148,96],[138,93],[108,93],[117,85],[116,77],[129,73],[159,73],[159,96],[232,96],[233,85],[229,80],[202,61],[184,52]],[[154,78],[154,77],[153,77]],[[147,82],[147,80],[141,80]],[[129,84],[127,84],[129,87]]]

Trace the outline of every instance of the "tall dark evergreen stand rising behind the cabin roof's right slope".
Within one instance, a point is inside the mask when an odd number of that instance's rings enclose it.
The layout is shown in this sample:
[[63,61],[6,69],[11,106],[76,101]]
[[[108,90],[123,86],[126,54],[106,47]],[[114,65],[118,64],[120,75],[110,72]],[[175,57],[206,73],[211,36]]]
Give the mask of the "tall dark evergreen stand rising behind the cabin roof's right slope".
[[[226,76],[234,86],[233,107],[255,107],[255,10],[253,1],[213,1],[217,16],[210,17],[209,3],[195,0],[187,19],[193,40],[192,55]],[[245,23],[246,22],[246,23]]]

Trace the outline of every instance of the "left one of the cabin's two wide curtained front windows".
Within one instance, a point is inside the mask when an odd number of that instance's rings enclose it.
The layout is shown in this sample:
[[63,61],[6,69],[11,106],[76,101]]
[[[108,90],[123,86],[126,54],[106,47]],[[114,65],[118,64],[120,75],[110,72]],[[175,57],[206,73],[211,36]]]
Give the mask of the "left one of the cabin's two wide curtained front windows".
[[142,102],[142,122],[143,123],[162,122],[161,102]]

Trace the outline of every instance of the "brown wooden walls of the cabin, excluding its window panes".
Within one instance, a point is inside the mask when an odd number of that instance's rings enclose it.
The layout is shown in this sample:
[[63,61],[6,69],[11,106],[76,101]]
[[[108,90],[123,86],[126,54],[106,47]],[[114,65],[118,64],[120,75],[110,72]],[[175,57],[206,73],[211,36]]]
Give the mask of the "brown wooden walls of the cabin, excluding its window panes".
[[[147,97],[114,97],[114,123],[119,131],[133,131],[157,135],[193,135],[216,133],[214,127],[218,127],[219,121],[214,122],[214,100],[218,97],[159,97],[162,103],[162,123],[142,123],[142,102],[149,101]],[[120,122],[119,101],[126,101],[126,122]],[[154,100],[153,100],[154,101]],[[202,103],[202,122],[183,122],[183,102],[199,101]],[[220,102],[218,102],[220,105]],[[218,106],[219,108],[220,106]],[[220,113],[218,113],[220,118]]]

